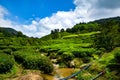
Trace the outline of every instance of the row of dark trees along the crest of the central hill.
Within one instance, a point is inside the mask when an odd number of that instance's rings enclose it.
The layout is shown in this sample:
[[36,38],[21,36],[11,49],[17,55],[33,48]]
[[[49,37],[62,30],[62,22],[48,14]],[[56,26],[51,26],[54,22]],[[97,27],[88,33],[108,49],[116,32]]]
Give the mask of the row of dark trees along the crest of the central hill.
[[51,34],[56,34],[58,32],[68,32],[68,33],[86,33],[86,32],[92,32],[92,31],[98,31],[99,30],[99,24],[90,22],[90,23],[79,23],[76,24],[73,28],[67,28],[65,29],[54,29],[51,30]]

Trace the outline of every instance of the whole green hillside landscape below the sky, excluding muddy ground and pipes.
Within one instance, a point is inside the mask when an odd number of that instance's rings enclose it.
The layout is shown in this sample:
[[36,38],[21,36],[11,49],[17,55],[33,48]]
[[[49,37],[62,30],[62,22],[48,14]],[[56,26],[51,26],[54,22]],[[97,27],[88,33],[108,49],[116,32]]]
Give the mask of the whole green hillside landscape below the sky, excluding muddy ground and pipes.
[[54,65],[58,69],[74,68],[75,73],[89,63],[91,67],[75,80],[90,80],[101,71],[104,74],[98,80],[119,80],[119,58],[120,17],[51,30],[51,34],[42,38],[0,28],[0,79],[3,80],[14,80],[15,75],[23,75],[26,70],[56,75]]

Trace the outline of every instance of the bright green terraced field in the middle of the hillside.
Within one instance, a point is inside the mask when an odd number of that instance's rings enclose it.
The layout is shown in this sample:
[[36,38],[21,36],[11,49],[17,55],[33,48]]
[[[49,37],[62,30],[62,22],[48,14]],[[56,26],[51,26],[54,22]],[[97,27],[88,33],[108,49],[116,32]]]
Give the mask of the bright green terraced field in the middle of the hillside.
[[[72,37],[71,39],[54,39],[54,40],[48,40],[47,43],[42,46],[42,49],[60,49],[60,50],[73,50],[73,49],[79,49],[79,48],[91,48],[93,41],[90,40],[90,36],[86,35],[92,35],[97,32],[91,32],[87,34],[81,34],[85,35],[84,37],[80,38],[73,38],[73,36],[78,35],[69,35],[69,37]],[[64,36],[67,37],[67,36]]]

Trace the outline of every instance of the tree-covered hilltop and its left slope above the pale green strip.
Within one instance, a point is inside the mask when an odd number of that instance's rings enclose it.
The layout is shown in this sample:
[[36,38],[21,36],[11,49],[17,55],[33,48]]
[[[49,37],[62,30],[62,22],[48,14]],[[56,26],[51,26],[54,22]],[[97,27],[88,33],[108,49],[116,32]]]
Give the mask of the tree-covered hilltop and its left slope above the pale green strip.
[[95,32],[99,31],[100,29],[99,27],[100,25],[95,22],[79,23],[73,26],[72,28],[51,30],[51,34],[42,37],[41,40],[59,39],[62,38],[63,36],[71,34]]

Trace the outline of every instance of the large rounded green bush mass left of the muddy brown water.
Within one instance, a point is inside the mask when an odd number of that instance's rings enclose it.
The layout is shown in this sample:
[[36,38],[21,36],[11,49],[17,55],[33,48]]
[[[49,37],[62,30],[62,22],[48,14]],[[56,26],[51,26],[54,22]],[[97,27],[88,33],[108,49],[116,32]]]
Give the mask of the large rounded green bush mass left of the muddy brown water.
[[53,71],[53,65],[51,61],[41,56],[40,53],[31,49],[22,49],[14,53],[15,60],[27,69],[39,69],[44,73],[51,73]]

